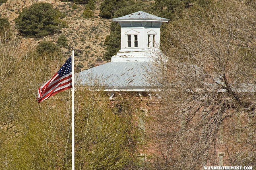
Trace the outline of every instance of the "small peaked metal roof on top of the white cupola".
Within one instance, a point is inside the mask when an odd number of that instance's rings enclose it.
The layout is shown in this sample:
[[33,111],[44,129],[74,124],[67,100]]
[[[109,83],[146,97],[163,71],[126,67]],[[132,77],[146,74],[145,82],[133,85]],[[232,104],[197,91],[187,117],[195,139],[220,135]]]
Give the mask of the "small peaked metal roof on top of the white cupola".
[[143,11],[138,11],[129,15],[121,16],[119,18],[113,18],[113,21],[120,21],[120,20],[157,20],[162,22],[168,22],[169,19],[161,18],[149,13],[145,13]]

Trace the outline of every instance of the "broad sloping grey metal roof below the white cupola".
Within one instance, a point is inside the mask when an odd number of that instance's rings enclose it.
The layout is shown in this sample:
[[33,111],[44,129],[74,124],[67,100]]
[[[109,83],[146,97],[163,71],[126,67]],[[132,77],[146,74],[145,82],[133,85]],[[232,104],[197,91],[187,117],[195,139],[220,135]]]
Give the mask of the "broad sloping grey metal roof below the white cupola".
[[150,68],[152,64],[149,62],[109,62],[81,71],[76,76],[84,86],[90,84],[105,88],[146,88],[152,87],[145,77]]

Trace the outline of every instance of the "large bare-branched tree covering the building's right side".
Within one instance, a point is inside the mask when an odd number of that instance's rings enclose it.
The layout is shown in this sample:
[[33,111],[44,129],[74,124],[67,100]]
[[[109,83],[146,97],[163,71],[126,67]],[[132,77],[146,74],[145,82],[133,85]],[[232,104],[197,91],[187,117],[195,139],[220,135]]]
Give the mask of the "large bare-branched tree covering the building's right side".
[[194,5],[167,26],[151,80],[165,112],[159,169],[255,166],[255,1]]

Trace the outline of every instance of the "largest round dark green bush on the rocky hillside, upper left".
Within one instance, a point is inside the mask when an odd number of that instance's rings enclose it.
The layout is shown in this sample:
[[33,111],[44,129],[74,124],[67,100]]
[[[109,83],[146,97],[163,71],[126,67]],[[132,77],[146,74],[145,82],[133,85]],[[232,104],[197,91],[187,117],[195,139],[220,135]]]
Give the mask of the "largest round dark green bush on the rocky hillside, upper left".
[[23,36],[44,37],[65,26],[60,19],[64,16],[49,3],[34,3],[22,10],[15,23]]

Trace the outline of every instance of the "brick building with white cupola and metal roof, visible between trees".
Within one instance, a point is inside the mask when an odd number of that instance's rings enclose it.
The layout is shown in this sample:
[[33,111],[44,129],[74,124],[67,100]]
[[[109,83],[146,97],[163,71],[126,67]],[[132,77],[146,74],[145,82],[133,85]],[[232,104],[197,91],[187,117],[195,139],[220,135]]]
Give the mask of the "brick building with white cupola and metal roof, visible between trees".
[[[156,119],[163,110],[161,97],[156,93],[154,96],[152,95],[158,85],[150,84],[146,77],[148,77],[148,72],[153,71],[152,61],[159,54],[161,55],[159,49],[160,26],[163,22],[168,22],[169,19],[138,11],[112,20],[121,26],[121,49],[112,57],[111,62],[99,63],[97,67],[82,71],[77,76],[81,85],[89,85],[106,91],[110,100],[114,99],[120,92],[136,94],[138,99],[143,101],[144,106],[141,107],[141,110],[145,112],[146,116],[150,114],[153,118],[145,122],[145,117],[138,117],[138,127],[150,131],[151,127],[154,126],[152,120]],[[239,119],[242,120],[241,116]],[[229,146],[225,144],[225,131],[223,127],[221,129],[219,137],[216,139],[218,140],[216,146],[217,162],[210,162],[216,166],[225,165],[227,148],[232,150],[232,146],[228,142]],[[158,146],[158,140],[161,139],[151,137],[152,142],[139,154],[142,159],[147,159],[147,154],[161,156]],[[239,142],[239,138],[241,136],[237,137],[237,142]]]

